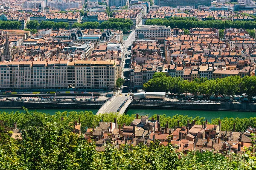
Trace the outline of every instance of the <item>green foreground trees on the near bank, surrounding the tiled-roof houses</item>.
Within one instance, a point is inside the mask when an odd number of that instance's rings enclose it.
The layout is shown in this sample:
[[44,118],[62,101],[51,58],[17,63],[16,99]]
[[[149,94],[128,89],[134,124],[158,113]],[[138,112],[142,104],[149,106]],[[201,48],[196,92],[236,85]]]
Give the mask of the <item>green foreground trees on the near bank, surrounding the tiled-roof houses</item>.
[[[61,121],[61,117],[64,120]],[[139,144],[119,145],[119,149],[111,144],[105,145],[105,151],[97,152],[94,142],[87,142],[83,135],[72,132],[69,122],[81,118],[82,125],[91,127],[99,123],[113,122],[129,124],[135,115],[119,115],[118,113],[93,115],[92,112],[57,112],[55,115],[37,111],[24,113],[0,112],[0,169],[6,170],[240,170],[255,169],[255,136],[253,146],[244,154],[213,153],[190,151],[187,154],[177,153],[171,144],[163,146],[159,141],[149,146]],[[156,117],[154,115],[153,117]],[[176,115],[160,116],[160,122],[169,122],[169,126],[186,125],[192,117]],[[196,124],[204,118],[196,117]],[[250,118],[255,126],[256,118]],[[234,119],[238,121],[245,119]],[[229,120],[222,121],[222,126]],[[22,129],[22,140],[10,138],[8,131],[17,122]],[[215,123],[215,120],[212,120]],[[232,122],[233,123],[233,122]],[[245,124],[244,124],[245,125]]]

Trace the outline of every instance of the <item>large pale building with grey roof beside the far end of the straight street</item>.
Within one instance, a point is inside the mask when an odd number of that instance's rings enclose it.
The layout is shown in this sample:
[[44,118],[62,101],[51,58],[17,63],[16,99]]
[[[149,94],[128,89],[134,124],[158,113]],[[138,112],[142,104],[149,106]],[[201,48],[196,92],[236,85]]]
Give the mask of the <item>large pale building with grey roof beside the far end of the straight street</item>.
[[139,26],[136,28],[136,38],[144,36],[144,38],[153,37],[169,37],[171,36],[171,28],[168,26]]

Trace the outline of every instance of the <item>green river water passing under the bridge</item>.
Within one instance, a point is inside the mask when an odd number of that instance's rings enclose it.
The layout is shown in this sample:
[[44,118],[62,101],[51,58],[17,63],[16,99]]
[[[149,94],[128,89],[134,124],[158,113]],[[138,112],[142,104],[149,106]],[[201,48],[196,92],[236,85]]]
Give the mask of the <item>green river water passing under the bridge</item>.
[[[22,109],[0,109],[0,111],[12,112],[12,111],[20,111]],[[33,111],[33,110],[30,110]],[[94,114],[97,113],[97,109],[37,109],[37,111],[54,114],[57,111],[92,111]],[[256,117],[256,112],[241,112],[241,111],[193,111],[193,110],[152,110],[152,109],[129,109],[127,114],[136,114],[152,116],[153,114],[166,114],[167,116],[174,116],[176,114],[188,115],[191,117],[204,117],[205,119],[214,119],[220,117],[221,119],[224,117],[233,117],[233,118],[249,118]]]

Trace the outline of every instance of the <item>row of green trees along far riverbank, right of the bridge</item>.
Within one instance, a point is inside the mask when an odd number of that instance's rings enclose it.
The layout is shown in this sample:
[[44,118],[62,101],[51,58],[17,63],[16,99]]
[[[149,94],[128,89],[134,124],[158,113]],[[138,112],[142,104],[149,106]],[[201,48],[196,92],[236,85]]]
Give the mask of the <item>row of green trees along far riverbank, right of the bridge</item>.
[[212,95],[235,95],[246,93],[248,98],[256,94],[256,77],[230,76],[222,79],[194,79],[194,81],[183,80],[180,77],[166,77],[164,73],[155,73],[153,79],[143,84],[145,91],[171,91],[173,93],[192,93]]

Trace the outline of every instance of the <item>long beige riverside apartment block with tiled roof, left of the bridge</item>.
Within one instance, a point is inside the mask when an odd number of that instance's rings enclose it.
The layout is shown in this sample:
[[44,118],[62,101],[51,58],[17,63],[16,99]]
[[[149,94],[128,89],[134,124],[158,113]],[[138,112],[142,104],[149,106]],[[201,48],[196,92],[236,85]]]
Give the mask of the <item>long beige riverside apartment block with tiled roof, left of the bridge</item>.
[[115,61],[0,62],[0,90],[56,89],[75,86],[111,89],[116,85]]

